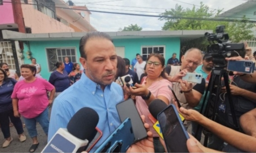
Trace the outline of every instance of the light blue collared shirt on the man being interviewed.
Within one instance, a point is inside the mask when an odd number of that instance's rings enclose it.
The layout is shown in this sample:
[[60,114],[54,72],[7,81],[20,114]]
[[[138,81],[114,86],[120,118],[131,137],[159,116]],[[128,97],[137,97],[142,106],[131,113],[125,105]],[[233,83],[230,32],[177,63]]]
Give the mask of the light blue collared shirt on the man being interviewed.
[[[59,128],[67,128],[71,117],[81,108],[90,107],[99,115],[97,127],[103,136],[91,149],[94,152],[120,125],[116,105],[124,101],[123,91],[117,83],[105,87],[91,81],[84,73],[77,83],[62,92],[54,101],[48,132],[48,142]],[[85,116],[86,117],[86,116]]]

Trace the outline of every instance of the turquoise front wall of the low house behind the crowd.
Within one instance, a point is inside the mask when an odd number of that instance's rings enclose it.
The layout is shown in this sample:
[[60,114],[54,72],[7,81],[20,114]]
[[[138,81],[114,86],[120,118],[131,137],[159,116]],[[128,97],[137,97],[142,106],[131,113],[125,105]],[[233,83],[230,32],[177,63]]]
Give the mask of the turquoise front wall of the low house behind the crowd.
[[[125,57],[130,61],[135,58],[136,53],[141,54],[141,46],[165,46],[165,59],[167,60],[172,56],[174,52],[177,53],[177,58],[180,54],[180,38],[147,38],[147,39],[115,39],[114,45],[116,47],[125,47]],[[58,48],[58,47],[76,47],[77,60],[79,62],[79,40],[70,41],[37,41],[29,42],[30,51],[32,56],[36,58],[37,63],[42,67],[41,75],[45,79],[49,79],[51,72],[48,70],[47,54],[45,48]],[[31,63],[27,59],[25,53],[29,50],[27,45],[24,45],[24,63]]]

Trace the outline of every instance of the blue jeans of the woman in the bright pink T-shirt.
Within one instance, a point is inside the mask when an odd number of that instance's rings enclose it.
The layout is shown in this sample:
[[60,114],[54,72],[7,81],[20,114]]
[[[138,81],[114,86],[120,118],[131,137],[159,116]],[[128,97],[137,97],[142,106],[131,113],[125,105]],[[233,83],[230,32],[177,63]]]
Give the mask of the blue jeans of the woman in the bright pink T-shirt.
[[49,129],[48,108],[46,108],[41,114],[39,114],[35,118],[24,118],[24,122],[26,124],[27,131],[29,132],[29,136],[31,138],[36,137],[38,134],[36,130],[36,122],[38,122],[41,125],[45,134],[48,135],[48,129]]

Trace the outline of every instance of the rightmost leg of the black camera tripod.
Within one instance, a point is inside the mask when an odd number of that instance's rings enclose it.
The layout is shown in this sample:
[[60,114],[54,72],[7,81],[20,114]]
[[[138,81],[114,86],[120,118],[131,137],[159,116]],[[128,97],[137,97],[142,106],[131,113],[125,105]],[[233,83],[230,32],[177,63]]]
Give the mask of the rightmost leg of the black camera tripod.
[[233,123],[236,126],[236,128],[238,128],[235,108],[234,108],[234,104],[232,103],[232,96],[231,96],[231,91],[230,91],[230,87],[229,87],[229,77],[228,77],[227,72],[224,73],[224,82],[225,82],[225,87],[226,87],[226,90],[227,90],[227,98],[229,100],[229,105],[230,105],[230,110],[231,110],[231,114],[232,114]]

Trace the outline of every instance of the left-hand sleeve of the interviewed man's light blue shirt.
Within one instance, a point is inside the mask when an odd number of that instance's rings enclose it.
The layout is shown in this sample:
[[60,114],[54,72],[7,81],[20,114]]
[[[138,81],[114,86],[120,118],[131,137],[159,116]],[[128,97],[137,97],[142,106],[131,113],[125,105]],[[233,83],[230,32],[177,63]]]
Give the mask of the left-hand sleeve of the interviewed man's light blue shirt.
[[69,120],[72,118],[69,103],[61,101],[60,99],[54,100],[53,107],[51,109],[51,118],[48,131],[48,142],[54,136],[54,134],[60,128],[67,128]]

